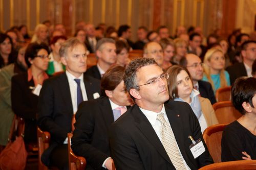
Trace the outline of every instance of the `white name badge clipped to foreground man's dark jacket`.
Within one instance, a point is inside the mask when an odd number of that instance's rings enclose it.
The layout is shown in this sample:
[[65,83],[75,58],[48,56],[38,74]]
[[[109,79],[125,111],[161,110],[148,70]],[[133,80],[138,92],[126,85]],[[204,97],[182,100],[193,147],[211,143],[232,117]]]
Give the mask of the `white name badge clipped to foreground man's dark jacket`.
[[191,139],[191,141],[193,143],[190,144],[188,148],[190,149],[191,153],[193,154],[194,158],[196,159],[202,153],[204,153],[204,151],[205,151],[204,144],[201,139],[198,139],[197,141],[195,141],[191,136],[189,136],[189,138]]

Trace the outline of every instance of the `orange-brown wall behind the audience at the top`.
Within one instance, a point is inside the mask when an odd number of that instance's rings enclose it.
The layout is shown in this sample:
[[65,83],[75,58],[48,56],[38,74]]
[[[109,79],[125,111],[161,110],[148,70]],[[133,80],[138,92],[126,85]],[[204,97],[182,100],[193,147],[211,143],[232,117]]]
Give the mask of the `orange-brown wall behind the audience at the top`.
[[[133,40],[139,26],[150,30],[157,28],[154,19],[159,19],[159,25],[166,25],[171,34],[177,26],[186,28],[202,27],[205,35],[216,28],[221,28],[222,1],[225,0],[73,0],[69,9],[62,9],[69,0],[0,0],[0,29],[5,31],[13,25],[25,24],[30,33],[37,23],[50,19],[52,23],[61,23],[63,12],[71,14],[72,24],[69,30],[74,33],[75,23],[79,20],[98,25],[105,22],[108,26],[127,23],[133,26]],[[256,1],[237,1],[236,28],[251,32],[254,27]],[[156,7],[160,4],[160,7]],[[246,9],[246,10],[245,10]],[[68,10],[68,11],[67,11]],[[155,11],[154,11],[155,10]],[[154,16],[154,14],[159,16]],[[154,22],[155,23],[155,22]]]

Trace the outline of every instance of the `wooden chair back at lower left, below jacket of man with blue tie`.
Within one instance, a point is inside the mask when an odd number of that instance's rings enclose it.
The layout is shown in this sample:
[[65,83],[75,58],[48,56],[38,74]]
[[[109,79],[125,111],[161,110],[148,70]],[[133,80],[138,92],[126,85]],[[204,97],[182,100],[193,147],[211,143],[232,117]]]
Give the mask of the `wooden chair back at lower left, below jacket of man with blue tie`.
[[37,127],[37,142],[38,142],[38,169],[39,170],[48,170],[48,167],[42,163],[41,156],[42,153],[49,148],[51,135],[49,132],[43,132],[40,128]]

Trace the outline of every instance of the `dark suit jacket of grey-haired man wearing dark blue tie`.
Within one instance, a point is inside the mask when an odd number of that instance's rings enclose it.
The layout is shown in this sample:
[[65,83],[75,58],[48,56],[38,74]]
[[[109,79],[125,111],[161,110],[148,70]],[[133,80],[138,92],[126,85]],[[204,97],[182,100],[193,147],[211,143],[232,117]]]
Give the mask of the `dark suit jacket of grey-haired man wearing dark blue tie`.
[[[100,93],[100,82],[92,77],[83,76],[88,100],[93,99],[93,94]],[[62,144],[71,132],[73,106],[69,82],[66,72],[52,77],[44,82],[39,95],[38,127],[51,134],[50,147],[42,155],[42,161],[49,165],[49,156],[52,150]]]

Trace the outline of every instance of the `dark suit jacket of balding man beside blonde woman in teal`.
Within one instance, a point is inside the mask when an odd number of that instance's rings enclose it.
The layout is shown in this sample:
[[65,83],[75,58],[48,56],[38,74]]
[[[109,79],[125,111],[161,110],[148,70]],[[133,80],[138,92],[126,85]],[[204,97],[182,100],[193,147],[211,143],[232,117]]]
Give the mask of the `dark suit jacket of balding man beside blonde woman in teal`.
[[216,103],[216,98],[214,95],[214,90],[212,90],[211,84],[209,82],[206,81],[198,81],[198,85],[199,85],[199,92],[200,95],[203,98],[207,98],[210,100],[210,103],[213,105]]

